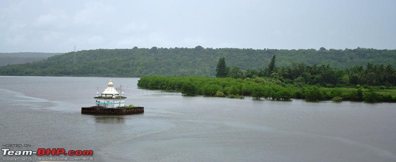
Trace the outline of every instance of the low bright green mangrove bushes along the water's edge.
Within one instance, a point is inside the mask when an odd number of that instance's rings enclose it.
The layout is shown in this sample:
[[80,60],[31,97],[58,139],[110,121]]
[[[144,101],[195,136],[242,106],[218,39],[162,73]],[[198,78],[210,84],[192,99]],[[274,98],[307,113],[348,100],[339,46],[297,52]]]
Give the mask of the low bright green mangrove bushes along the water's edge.
[[206,96],[251,96],[253,99],[307,101],[351,100],[366,102],[396,102],[396,91],[382,93],[376,87],[326,88],[316,85],[286,84],[274,78],[233,79],[207,77],[156,77],[146,76],[138,81],[138,86],[149,89],[179,90],[186,95]]

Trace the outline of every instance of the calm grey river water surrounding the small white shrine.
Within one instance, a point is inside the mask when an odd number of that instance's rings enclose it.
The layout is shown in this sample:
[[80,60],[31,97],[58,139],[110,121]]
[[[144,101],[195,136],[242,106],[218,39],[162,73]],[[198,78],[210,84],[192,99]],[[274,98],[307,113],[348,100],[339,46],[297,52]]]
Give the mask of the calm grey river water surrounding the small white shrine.
[[[144,114],[95,116],[81,107],[95,105],[109,78],[0,76],[0,144],[94,152],[78,162],[396,161],[395,103],[189,97],[138,80],[112,79]],[[10,157],[43,156],[0,161]]]

